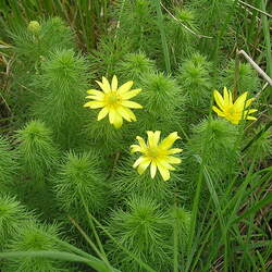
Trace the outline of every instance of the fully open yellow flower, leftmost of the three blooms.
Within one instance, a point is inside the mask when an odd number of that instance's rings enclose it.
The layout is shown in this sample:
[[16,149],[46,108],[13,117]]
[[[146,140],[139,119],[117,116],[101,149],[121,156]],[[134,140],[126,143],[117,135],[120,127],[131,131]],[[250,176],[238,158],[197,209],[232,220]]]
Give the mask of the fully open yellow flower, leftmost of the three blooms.
[[[102,82],[96,83],[100,86],[101,90],[89,89],[87,92],[90,96],[86,98],[94,99],[84,104],[90,109],[102,110],[99,112],[97,120],[100,121],[109,114],[109,121],[116,128],[123,124],[123,119],[128,122],[136,121],[136,116],[131,109],[141,109],[143,107],[136,102],[129,101],[129,98],[137,96],[141,89],[133,89],[133,82],[129,81],[118,88],[118,78],[114,75],[112,77],[111,85],[106,77],[102,77]],[[131,109],[129,109],[131,108]]]

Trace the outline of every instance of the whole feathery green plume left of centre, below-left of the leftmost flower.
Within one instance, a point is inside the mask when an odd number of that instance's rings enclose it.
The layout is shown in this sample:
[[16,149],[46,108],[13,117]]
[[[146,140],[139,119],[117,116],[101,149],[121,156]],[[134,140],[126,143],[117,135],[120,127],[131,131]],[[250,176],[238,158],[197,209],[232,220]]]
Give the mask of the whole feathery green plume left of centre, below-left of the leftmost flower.
[[52,140],[52,132],[44,122],[30,121],[17,131],[18,151],[27,175],[42,182],[54,168],[59,151]]

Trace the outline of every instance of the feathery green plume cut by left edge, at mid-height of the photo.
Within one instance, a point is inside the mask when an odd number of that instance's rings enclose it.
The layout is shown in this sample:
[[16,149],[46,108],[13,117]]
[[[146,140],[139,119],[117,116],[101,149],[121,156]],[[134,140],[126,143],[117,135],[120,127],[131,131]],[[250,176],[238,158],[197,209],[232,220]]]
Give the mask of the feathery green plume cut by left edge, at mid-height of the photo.
[[13,182],[18,170],[17,154],[8,139],[0,135],[0,188]]

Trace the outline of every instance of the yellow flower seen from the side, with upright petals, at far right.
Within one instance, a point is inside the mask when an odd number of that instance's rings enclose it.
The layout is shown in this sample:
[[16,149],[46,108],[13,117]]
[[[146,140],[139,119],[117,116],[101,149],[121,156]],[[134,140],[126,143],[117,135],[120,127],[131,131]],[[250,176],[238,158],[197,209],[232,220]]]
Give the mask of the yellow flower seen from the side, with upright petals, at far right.
[[257,120],[254,116],[249,116],[249,114],[258,110],[245,110],[255,100],[254,98],[247,100],[247,91],[240,95],[234,103],[232,92],[227,90],[226,87],[224,87],[224,98],[218,90],[213,91],[213,96],[219,108],[213,106],[212,110],[215,111],[219,116],[225,118],[235,125],[237,125],[240,120]]

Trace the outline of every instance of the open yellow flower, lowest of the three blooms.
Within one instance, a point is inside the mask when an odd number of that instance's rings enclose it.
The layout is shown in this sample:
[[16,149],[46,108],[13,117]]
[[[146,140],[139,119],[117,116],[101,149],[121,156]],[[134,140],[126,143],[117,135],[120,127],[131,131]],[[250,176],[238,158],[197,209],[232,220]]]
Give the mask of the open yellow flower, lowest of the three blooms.
[[164,138],[160,144],[160,134],[161,132],[147,132],[148,141],[137,136],[136,139],[139,141],[139,145],[132,145],[132,152],[141,152],[140,156],[133,168],[138,168],[138,173],[141,175],[150,164],[150,175],[153,178],[156,176],[157,168],[164,181],[170,178],[170,170],[174,170],[171,164],[178,164],[182,162],[180,158],[173,157],[171,154],[180,153],[183,150],[180,148],[172,148],[172,145],[180,137],[177,133],[171,133],[166,138]]

